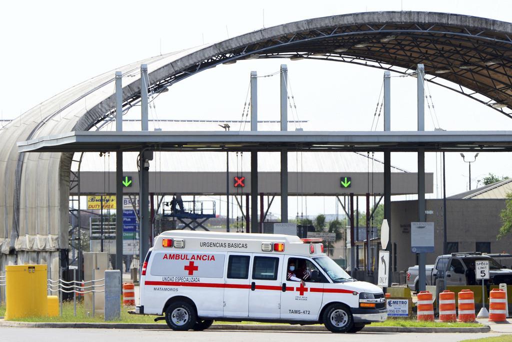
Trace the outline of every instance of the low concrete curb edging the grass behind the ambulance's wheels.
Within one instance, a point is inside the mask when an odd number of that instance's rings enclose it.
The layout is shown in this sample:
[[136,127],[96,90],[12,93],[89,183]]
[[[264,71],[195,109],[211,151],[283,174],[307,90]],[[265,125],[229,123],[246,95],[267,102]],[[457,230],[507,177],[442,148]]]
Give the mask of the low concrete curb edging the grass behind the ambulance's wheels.
[[[53,323],[53,322],[16,322],[0,320],[0,327],[13,328],[68,328],[68,329],[153,329],[167,330],[165,324],[153,323]],[[324,326],[298,326],[274,324],[214,324],[208,330],[245,330],[245,331],[319,331],[325,332]],[[412,332],[412,333],[485,333],[489,326],[479,328],[415,328],[415,327],[365,327],[364,332]]]

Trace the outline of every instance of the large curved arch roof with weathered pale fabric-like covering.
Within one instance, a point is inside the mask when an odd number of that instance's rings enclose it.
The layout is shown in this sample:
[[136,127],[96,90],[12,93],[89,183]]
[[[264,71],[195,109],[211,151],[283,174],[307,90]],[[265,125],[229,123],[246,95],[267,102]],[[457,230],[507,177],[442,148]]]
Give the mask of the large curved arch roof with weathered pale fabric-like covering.
[[[124,109],[139,99],[140,64],[151,91],[197,72],[247,58],[325,59],[407,73],[425,65],[426,79],[512,117],[512,24],[433,12],[335,15],[253,31],[226,41],[133,63],[123,72]],[[448,81],[448,82],[446,82]],[[67,248],[72,154],[18,153],[16,142],[90,130],[114,114],[114,71],[61,92],[0,133],[0,251]],[[3,236],[3,237],[2,237]]]

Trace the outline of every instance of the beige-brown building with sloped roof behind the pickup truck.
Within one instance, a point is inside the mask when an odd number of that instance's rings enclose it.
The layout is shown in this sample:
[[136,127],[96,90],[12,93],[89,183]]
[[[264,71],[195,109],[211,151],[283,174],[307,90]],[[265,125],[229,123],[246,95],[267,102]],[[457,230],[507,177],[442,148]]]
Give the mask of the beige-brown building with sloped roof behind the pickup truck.
[[[512,234],[497,239],[501,227],[500,212],[506,194],[512,192],[512,179],[464,192],[446,199],[446,231],[449,252],[511,253]],[[411,252],[411,222],[418,219],[417,200],[391,203],[391,244],[393,281],[400,271],[417,265]],[[434,264],[443,253],[443,200],[426,200],[426,219],[434,223],[435,251],[426,255],[426,264]],[[403,281],[403,279],[402,279]]]

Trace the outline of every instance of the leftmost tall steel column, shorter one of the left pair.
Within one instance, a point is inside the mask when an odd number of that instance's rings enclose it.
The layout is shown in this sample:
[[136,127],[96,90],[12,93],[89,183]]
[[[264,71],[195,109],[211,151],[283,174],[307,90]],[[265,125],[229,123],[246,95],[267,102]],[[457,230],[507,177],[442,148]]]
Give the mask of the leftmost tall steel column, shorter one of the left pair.
[[[116,71],[116,131],[123,130],[122,73]],[[123,152],[116,152],[116,269],[123,274]]]

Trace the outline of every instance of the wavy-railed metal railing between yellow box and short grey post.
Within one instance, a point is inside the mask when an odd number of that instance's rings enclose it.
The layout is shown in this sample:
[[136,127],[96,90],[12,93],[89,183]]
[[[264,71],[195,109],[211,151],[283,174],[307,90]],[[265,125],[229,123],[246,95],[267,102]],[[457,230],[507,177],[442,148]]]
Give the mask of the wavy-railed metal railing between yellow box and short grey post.
[[[60,272],[60,276],[62,276],[62,271]],[[94,270],[93,270],[93,278],[94,278]],[[62,316],[62,293],[73,293],[73,315],[76,316],[76,296],[83,296],[86,293],[92,293],[92,315],[94,317],[95,313],[95,293],[97,292],[105,292],[105,284],[97,285],[98,281],[105,281],[105,278],[101,279],[93,279],[89,281],[79,281],[76,279],[76,270],[73,270],[73,280],[65,281],[61,278],[58,280],[48,279],[47,281],[47,290],[51,293],[57,292],[59,297],[59,306],[60,306],[60,316]],[[83,284],[83,286],[82,286]],[[87,285],[86,284],[91,284]],[[103,290],[97,290],[97,288],[103,288]]]

